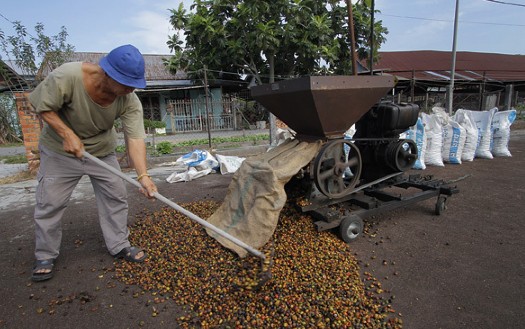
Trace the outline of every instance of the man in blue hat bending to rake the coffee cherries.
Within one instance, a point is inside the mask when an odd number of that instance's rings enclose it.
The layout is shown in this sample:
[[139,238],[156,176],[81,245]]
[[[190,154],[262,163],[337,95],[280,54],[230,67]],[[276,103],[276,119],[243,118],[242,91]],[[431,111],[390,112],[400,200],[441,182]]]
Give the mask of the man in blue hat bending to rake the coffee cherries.
[[109,253],[131,262],[142,262],[146,258],[146,253],[132,247],[128,240],[124,181],[83,157],[85,150],[119,168],[113,124],[120,118],[129,156],[143,187],[140,191],[153,197],[157,187],[146,171],[142,105],[133,92],[144,87],[144,59],[137,48],[124,45],[112,50],[98,65],[63,64],[29,95],[31,105],[45,123],[39,142],[34,281],[53,276],[62,239],[62,215],[83,175],[88,175],[93,185]]

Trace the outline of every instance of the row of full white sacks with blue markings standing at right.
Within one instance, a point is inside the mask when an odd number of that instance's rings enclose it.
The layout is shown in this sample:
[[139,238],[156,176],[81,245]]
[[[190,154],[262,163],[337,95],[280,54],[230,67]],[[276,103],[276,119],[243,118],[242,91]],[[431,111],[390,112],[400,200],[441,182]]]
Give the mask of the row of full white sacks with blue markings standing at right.
[[510,126],[515,118],[516,110],[459,109],[449,116],[445,109],[434,107],[432,114],[421,113],[416,125],[400,138],[412,139],[418,146],[414,169],[461,164],[475,158],[510,157]]

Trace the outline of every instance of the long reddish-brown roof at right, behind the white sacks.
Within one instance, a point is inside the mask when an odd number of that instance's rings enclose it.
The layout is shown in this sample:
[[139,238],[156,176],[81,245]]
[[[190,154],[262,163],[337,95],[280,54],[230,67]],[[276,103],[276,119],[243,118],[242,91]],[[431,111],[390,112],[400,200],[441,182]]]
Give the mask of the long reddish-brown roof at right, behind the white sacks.
[[[448,81],[452,52],[392,51],[380,52],[374,71],[384,71],[406,79]],[[525,56],[494,53],[456,52],[454,80],[500,82],[525,81]]]

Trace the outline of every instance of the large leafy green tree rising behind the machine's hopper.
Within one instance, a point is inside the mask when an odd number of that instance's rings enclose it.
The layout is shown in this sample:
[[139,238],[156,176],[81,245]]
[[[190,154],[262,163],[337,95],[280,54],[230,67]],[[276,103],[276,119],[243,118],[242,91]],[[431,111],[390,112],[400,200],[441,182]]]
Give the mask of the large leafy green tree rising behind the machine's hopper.
[[[353,5],[356,49],[368,56],[370,25],[366,1]],[[171,70],[204,66],[250,74],[257,83],[279,77],[349,74],[351,48],[347,2],[339,0],[195,0],[187,12],[170,9],[176,33],[167,44]],[[374,24],[374,49],[388,31]],[[184,36],[185,42],[181,40]],[[377,50],[376,50],[377,51]]]

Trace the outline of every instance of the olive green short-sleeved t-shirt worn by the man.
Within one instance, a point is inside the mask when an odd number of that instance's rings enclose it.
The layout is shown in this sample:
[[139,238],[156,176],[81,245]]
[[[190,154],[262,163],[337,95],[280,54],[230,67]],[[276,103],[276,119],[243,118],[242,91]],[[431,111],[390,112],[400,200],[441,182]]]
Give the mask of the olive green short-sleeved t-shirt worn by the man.
[[[142,104],[135,93],[119,96],[102,107],[88,95],[82,80],[82,63],[66,63],[55,69],[29,95],[37,113],[55,111],[84,143],[85,150],[96,157],[115,151],[117,134],[113,127],[117,118],[127,138],[145,138]],[[44,124],[40,143],[54,152],[74,156],[64,151],[62,138]]]

